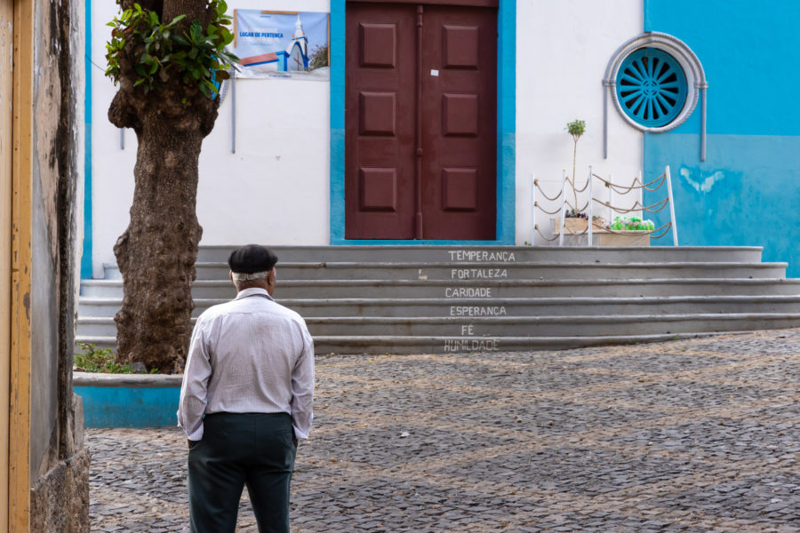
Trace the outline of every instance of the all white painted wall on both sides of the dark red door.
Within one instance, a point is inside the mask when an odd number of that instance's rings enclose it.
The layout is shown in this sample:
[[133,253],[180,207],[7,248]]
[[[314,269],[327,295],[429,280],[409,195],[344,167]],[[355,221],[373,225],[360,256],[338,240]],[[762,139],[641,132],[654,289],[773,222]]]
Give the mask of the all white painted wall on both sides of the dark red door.
[[[281,10],[287,4],[230,0],[228,5]],[[329,7],[329,0],[292,3],[299,11]],[[92,60],[101,67],[110,29],[105,22],[115,13],[113,2],[92,2]],[[596,173],[628,185],[641,170],[642,134],[623,122],[611,100],[609,159],[603,159],[602,80],[613,52],[642,28],[642,0],[517,2],[516,243],[532,242],[531,175],[548,195],[556,195],[562,169],[572,167],[566,123],[576,118],[587,123],[578,147],[579,176],[592,164]],[[119,131],[106,116],[116,89],[100,68],[92,69],[92,85],[93,265],[95,277],[101,277],[103,263],[116,261],[113,246],[128,224],[136,139],[125,131],[120,149]],[[330,242],[329,100],[327,81],[236,82],[236,154],[230,149],[228,93],[200,157],[197,215],[203,244]],[[537,219],[548,231],[549,216],[538,213]]]

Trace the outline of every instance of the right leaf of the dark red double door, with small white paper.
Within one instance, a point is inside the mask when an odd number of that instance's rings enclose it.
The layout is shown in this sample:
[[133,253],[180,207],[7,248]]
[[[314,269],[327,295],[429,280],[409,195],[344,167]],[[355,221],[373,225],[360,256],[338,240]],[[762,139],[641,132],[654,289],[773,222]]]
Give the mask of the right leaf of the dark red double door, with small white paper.
[[426,6],[423,26],[423,235],[496,237],[497,15]]

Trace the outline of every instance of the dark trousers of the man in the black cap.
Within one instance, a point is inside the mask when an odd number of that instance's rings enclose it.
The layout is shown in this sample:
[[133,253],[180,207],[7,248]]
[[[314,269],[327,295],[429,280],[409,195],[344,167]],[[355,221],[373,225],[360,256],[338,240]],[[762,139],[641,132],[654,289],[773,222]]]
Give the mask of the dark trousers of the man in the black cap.
[[244,485],[260,533],[289,533],[289,483],[294,471],[292,418],[286,413],[216,413],[188,453],[193,533],[236,530]]

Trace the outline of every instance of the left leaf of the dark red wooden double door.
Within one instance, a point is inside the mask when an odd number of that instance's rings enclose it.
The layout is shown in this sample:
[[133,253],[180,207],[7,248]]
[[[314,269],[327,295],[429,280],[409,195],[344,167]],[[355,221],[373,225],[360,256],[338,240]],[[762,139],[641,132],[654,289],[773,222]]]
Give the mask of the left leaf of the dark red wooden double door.
[[412,5],[348,4],[348,239],[414,236],[413,15]]

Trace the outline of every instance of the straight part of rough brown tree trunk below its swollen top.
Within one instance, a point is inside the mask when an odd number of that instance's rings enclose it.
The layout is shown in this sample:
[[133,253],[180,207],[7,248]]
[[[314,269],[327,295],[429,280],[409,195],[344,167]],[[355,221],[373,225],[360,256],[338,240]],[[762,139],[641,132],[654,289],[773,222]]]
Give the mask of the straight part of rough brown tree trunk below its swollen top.
[[195,213],[203,137],[178,134],[156,114],[142,121],[131,223],[114,254],[124,280],[116,314],[120,362],[180,370],[191,336],[192,282],[203,229]]

